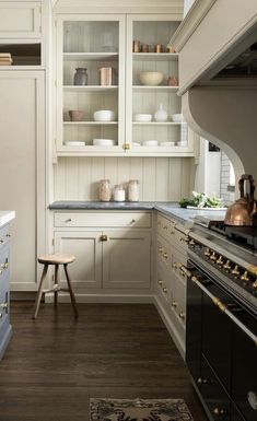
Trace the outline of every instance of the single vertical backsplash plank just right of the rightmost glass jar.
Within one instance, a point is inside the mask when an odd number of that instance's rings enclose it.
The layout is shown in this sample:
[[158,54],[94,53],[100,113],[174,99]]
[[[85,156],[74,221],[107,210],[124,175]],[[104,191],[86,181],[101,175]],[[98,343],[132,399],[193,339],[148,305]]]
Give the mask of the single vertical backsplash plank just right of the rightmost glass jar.
[[156,159],[147,157],[143,160],[143,184],[142,184],[142,199],[155,200],[155,178],[156,178]]

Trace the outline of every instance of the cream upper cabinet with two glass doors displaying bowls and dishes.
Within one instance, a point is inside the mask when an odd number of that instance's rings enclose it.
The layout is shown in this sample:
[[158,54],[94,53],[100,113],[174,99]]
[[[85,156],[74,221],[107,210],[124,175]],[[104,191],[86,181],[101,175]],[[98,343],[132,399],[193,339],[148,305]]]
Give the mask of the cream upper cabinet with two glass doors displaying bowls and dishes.
[[172,14],[57,14],[56,153],[192,156]]

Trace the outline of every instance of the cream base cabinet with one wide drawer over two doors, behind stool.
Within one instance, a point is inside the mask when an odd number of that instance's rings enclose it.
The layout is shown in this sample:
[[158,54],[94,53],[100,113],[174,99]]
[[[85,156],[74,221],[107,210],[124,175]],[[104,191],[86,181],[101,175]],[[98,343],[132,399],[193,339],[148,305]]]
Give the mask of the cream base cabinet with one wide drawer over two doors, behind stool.
[[77,294],[150,290],[150,212],[63,211],[54,221],[55,253],[77,258],[70,267]]

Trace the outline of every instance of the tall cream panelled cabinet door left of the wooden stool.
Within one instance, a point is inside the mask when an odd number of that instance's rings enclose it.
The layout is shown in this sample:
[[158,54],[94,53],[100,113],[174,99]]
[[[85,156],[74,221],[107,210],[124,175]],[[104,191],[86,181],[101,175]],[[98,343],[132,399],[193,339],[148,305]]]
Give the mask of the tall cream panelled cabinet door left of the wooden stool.
[[38,254],[45,253],[45,77],[43,71],[0,71],[1,209],[11,225],[11,290],[37,290]]

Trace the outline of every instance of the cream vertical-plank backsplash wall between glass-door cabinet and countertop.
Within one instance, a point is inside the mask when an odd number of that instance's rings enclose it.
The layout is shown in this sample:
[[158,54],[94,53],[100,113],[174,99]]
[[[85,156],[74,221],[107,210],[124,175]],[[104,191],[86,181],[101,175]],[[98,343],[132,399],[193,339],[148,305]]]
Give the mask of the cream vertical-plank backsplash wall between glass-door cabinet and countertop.
[[97,200],[98,182],[139,179],[140,200],[177,201],[191,194],[195,160],[179,157],[62,157],[55,166],[55,200]]

